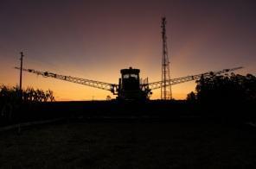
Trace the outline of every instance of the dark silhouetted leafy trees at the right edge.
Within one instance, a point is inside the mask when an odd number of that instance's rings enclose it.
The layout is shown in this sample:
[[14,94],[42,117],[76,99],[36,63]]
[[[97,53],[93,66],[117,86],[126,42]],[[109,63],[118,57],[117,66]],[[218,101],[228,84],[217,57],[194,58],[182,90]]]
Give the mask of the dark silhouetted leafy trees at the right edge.
[[226,115],[254,116],[256,105],[256,77],[253,74],[224,74],[196,81],[195,92],[187,101],[199,105],[205,112]]

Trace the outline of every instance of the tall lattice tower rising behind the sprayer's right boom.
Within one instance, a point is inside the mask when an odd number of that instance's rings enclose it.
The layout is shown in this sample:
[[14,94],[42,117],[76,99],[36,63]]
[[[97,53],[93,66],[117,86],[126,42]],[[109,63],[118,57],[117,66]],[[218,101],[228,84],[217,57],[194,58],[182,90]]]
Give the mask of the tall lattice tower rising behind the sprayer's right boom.
[[166,36],[166,18],[162,18],[162,39],[163,39],[163,57],[162,57],[162,82],[161,99],[168,100],[172,98],[171,85],[167,85],[170,80],[170,61],[168,57],[167,36]]

